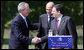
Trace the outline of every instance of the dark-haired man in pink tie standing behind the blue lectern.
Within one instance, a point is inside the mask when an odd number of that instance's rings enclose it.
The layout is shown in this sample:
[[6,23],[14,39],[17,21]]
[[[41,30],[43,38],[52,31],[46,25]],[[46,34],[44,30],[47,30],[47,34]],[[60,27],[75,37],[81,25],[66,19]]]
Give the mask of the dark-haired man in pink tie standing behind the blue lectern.
[[54,35],[72,35],[72,48],[77,49],[77,32],[76,26],[71,17],[64,15],[62,4],[54,5],[52,14],[54,20],[51,22],[51,30]]

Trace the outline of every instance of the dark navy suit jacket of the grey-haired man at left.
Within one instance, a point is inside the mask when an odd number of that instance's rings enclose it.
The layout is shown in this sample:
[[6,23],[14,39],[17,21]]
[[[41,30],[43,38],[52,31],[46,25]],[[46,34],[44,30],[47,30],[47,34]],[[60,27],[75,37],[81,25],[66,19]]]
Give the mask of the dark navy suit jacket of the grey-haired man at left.
[[11,23],[11,33],[9,40],[9,49],[28,49],[28,45],[31,44],[31,38],[29,38],[29,30],[37,29],[37,27],[31,25],[27,18],[28,28],[22,16],[17,15]]

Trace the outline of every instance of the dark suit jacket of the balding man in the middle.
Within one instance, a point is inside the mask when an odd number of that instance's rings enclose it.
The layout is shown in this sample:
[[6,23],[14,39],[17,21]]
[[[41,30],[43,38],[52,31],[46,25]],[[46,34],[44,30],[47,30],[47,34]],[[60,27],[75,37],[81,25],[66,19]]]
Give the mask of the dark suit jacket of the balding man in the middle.
[[[51,15],[52,16],[52,15]],[[51,18],[53,20],[53,18]],[[48,48],[48,37],[44,37],[48,34],[48,30],[50,29],[50,25],[48,24],[48,15],[47,14],[42,14],[39,18],[39,33],[37,34],[37,37],[42,38],[42,49],[47,49]],[[39,44],[38,44],[39,46]]]

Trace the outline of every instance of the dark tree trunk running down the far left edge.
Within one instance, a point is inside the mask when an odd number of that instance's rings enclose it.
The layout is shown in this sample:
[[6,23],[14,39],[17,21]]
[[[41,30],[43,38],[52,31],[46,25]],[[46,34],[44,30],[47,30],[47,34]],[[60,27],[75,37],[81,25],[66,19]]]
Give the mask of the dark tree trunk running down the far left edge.
[[5,18],[5,1],[1,1],[1,48],[3,44],[4,35],[4,18]]

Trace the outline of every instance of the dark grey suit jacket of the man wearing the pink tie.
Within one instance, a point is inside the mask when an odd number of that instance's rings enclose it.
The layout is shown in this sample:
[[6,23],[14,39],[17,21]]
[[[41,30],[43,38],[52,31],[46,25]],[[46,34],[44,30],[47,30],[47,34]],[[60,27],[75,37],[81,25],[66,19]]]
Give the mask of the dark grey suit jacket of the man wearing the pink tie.
[[69,16],[64,16],[61,19],[61,23],[59,25],[58,31],[56,27],[56,19],[51,22],[51,30],[53,30],[53,34],[56,35],[72,35],[72,48],[77,48],[77,32],[76,26]]

